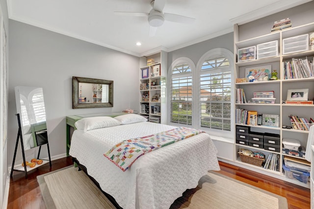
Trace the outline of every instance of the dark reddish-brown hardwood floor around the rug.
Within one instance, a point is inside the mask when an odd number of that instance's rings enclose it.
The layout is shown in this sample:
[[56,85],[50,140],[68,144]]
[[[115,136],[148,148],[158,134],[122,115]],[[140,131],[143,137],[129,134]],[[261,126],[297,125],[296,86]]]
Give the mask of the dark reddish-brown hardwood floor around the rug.
[[[28,179],[25,179],[24,173],[14,172],[10,181],[7,208],[45,209],[36,177],[71,164],[73,164],[71,157],[52,161],[52,168],[50,168],[49,163],[44,164],[28,172]],[[219,162],[219,164],[221,170],[218,172],[223,175],[286,197],[289,209],[310,209],[311,195],[308,188],[296,186],[228,163]]]

